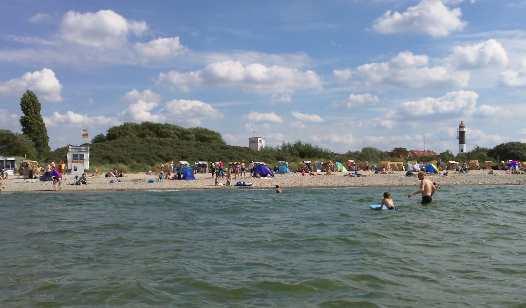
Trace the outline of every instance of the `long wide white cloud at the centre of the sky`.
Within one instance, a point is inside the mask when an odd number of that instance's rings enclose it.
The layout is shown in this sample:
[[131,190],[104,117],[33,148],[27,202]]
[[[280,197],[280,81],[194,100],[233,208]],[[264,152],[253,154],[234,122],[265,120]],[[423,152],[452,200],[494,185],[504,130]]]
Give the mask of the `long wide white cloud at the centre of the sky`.
[[240,61],[221,61],[202,70],[179,73],[160,73],[158,83],[168,81],[182,90],[192,86],[217,86],[242,89],[257,94],[292,94],[298,89],[320,88],[320,77],[311,70],[299,71],[284,66],[252,63],[243,66]]

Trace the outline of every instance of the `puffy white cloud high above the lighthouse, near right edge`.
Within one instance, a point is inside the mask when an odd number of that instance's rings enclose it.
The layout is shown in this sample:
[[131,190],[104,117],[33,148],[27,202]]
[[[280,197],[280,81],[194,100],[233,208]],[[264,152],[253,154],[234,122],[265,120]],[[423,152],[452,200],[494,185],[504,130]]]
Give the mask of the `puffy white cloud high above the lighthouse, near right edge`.
[[481,68],[489,65],[504,66],[509,63],[508,53],[502,45],[494,39],[485,42],[456,46],[453,54],[446,61],[463,69]]

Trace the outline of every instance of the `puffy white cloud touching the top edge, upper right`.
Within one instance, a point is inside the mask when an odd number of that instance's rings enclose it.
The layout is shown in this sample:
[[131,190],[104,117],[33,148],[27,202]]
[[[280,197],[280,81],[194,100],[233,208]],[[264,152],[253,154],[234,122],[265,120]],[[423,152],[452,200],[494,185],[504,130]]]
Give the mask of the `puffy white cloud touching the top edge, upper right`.
[[422,0],[402,14],[387,11],[375,20],[374,28],[383,34],[421,32],[431,36],[447,36],[466,27],[468,23],[460,20],[461,16],[460,8],[450,9],[441,0]]

